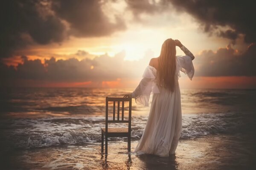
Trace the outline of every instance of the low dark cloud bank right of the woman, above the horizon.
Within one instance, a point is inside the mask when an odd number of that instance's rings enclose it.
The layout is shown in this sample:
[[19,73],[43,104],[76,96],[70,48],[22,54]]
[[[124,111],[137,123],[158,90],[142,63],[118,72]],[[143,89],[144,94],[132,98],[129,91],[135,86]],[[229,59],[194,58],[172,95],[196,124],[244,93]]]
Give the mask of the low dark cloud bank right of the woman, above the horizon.
[[239,54],[230,45],[218,51],[203,51],[197,56],[195,76],[256,76],[256,44]]

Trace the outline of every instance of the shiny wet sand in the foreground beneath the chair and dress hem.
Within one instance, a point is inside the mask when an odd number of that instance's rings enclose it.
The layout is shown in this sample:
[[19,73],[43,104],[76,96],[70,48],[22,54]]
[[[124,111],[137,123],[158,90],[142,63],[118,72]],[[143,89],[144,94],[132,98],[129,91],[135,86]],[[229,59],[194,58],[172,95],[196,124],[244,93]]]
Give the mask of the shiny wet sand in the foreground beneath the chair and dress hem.
[[[132,141],[131,150],[137,142]],[[2,167],[14,170],[252,170],[256,158],[252,136],[242,134],[181,139],[176,153],[162,158],[128,153],[127,143],[118,141],[109,143],[107,156],[100,150],[100,143],[87,143],[8,151]]]

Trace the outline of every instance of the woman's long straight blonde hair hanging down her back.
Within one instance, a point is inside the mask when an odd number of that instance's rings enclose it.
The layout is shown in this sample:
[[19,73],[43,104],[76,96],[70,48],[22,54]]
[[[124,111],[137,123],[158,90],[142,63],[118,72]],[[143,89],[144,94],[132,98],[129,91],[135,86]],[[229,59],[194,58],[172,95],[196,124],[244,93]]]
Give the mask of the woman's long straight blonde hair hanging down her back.
[[158,58],[157,83],[174,91],[176,72],[176,43],[171,38],[165,40]]

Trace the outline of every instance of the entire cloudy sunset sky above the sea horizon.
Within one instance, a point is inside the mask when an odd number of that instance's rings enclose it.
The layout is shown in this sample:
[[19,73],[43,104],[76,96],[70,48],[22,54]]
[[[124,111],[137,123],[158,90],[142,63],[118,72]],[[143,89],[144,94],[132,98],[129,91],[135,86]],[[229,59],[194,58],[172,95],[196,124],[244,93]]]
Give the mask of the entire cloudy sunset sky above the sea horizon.
[[256,88],[247,0],[6,0],[0,11],[0,86],[135,88],[172,38],[195,56],[180,88]]

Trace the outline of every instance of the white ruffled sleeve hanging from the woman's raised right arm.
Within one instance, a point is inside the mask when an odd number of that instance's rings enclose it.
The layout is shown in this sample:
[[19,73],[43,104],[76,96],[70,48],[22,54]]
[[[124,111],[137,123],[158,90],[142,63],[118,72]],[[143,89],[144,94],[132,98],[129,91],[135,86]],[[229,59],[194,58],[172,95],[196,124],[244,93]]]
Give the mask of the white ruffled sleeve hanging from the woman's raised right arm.
[[180,71],[182,71],[189,77],[189,79],[192,80],[195,73],[194,65],[192,63],[192,58],[187,55],[176,56],[176,61],[177,61],[176,74],[178,75],[178,77],[180,77]]

